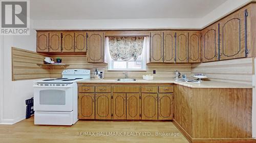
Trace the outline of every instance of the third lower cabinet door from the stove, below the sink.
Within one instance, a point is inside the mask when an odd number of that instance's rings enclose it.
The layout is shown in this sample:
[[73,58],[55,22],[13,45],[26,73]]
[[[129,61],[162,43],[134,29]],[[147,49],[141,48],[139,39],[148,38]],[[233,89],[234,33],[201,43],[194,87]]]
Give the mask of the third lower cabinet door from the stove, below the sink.
[[126,119],[126,95],[125,93],[113,94],[113,119]]

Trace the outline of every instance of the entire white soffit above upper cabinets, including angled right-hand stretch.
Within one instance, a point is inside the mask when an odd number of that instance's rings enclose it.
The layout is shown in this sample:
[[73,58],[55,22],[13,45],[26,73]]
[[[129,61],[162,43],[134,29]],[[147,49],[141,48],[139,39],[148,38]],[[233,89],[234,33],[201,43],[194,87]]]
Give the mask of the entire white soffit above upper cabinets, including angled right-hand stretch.
[[43,30],[130,29],[130,28],[202,28],[251,0],[228,0],[203,18],[35,20],[34,28]]

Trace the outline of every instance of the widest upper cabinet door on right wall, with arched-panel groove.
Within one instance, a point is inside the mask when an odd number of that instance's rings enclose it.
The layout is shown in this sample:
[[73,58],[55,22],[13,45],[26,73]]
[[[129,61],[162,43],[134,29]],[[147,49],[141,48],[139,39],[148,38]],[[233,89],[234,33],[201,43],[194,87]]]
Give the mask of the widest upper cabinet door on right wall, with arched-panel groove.
[[220,21],[220,60],[245,56],[245,14],[242,10]]

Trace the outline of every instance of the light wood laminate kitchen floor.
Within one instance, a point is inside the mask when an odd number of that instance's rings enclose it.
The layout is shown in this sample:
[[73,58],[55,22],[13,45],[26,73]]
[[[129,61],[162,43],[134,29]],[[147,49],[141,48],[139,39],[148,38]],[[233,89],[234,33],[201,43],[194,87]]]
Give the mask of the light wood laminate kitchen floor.
[[[89,134],[89,132],[91,134]],[[110,132],[112,132],[111,136],[104,136]],[[148,132],[150,132],[151,135],[149,135]],[[156,132],[179,133],[179,135],[175,136],[174,134],[169,134],[168,136],[156,136]],[[78,133],[80,133],[80,135],[77,135]],[[115,133],[119,134],[120,136],[115,135]],[[125,133],[126,135],[124,135]],[[148,133],[149,136],[145,136],[146,133]],[[133,136],[136,134],[137,136]],[[113,122],[79,120],[74,126],[46,126],[34,125],[33,117],[14,125],[0,125],[0,142],[188,143],[185,137],[172,122]]]

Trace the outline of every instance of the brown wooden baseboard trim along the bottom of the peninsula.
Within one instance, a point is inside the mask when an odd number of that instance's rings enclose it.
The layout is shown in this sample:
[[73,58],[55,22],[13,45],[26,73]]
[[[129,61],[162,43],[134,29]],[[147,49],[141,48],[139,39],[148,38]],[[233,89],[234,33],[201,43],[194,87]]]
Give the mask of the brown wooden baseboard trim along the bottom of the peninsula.
[[190,143],[254,143],[256,138],[193,138],[176,121],[174,125],[181,131]]

